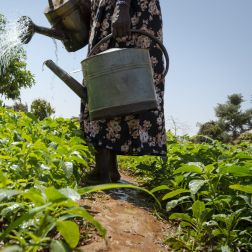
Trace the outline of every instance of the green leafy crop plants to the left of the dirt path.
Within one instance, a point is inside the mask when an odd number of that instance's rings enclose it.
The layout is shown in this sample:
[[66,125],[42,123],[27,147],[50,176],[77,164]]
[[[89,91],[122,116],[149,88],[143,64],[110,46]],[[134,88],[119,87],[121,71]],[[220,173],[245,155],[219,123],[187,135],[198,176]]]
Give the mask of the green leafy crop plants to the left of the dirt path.
[[[94,158],[79,122],[46,118],[0,108],[1,251],[74,251],[91,223],[105,228],[79,205],[81,197],[126,184],[80,187]],[[84,231],[85,232],[85,231]],[[87,231],[86,231],[87,232]]]

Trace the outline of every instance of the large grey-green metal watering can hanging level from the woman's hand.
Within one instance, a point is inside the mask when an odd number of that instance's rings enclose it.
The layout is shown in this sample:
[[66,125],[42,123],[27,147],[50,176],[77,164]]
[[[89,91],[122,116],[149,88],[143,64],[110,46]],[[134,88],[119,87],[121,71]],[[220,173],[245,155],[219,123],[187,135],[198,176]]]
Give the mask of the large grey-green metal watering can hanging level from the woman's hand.
[[[168,72],[169,57],[163,44],[153,35],[132,30],[149,36],[161,48]],[[51,60],[45,62],[83,100],[88,97],[90,120],[109,119],[116,116],[156,109],[157,98],[153,83],[153,70],[148,49],[113,48],[93,55],[112,34],[102,39],[81,62],[84,86],[56,66]]]

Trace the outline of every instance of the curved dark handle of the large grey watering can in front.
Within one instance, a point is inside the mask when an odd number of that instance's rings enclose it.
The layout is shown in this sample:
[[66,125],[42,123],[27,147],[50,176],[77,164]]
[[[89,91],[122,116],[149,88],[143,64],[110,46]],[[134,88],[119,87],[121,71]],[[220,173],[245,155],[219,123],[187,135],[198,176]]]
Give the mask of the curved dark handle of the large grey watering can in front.
[[[165,70],[163,72],[163,75],[166,76],[168,69],[169,69],[169,56],[168,56],[168,52],[166,50],[166,48],[164,47],[163,43],[157,39],[155,36],[153,36],[152,34],[150,34],[149,32],[146,31],[142,31],[142,30],[131,30],[132,33],[139,33],[142,35],[145,35],[149,38],[151,38],[153,41],[155,41],[159,47],[161,48],[164,56],[165,56],[165,62],[166,62],[166,66],[165,66]],[[100,45],[102,45],[104,42],[106,42],[107,40],[112,38],[112,33],[107,35],[106,37],[104,37],[103,39],[101,39],[89,52],[88,57],[92,56],[94,54],[94,52],[99,48]]]

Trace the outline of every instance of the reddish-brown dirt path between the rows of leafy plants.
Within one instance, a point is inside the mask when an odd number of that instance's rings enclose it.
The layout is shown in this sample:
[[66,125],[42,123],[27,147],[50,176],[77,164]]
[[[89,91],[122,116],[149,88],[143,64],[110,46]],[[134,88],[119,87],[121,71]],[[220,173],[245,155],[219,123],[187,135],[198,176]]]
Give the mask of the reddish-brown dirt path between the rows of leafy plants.
[[[125,174],[122,174],[122,181],[134,182]],[[105,240],[94,232],[88,244],[81,247],[81,251],[168,251],[162,241],[170,226],[153,214],[151,199],[143,193],[136,190],[115,189],[84,199],[81,205],[85,205],[107,229]]]

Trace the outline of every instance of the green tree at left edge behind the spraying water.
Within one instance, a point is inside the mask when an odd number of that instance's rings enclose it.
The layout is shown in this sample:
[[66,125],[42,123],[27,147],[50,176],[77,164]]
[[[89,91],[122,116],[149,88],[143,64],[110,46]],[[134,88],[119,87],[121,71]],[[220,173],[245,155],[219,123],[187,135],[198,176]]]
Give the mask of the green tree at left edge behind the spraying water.
[[[6,23],[4,16],[0,14],[0,36],[2,34],[2,37]],[[35,83],[34,76],[26,69],[25,51],[21,46],[17,46],[15,52],[6,67],[3,65],[0,55],[0,94],[7,99],[19,98],[21,88],[31,87]]]

